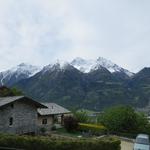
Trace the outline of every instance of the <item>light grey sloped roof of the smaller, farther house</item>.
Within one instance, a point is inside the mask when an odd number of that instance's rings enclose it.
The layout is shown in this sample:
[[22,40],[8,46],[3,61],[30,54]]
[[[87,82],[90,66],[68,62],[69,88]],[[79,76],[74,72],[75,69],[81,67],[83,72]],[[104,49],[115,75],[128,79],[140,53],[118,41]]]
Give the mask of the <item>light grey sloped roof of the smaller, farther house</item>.
[[42,103],[43,105],[47,106],[48,108],[39,108],[38,113],[42,116],[45,115],[59,115],[59,114],[68,114],[70,113],[69,110],[66,108],[59,106],[55,103]]

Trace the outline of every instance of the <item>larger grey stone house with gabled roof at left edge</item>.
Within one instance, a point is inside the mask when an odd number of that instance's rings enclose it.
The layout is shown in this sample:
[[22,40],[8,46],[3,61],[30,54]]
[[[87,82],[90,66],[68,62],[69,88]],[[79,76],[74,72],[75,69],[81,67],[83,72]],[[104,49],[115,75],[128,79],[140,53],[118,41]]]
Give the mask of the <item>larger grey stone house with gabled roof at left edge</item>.
[[0,133],[32,133],[38,130],[38,108],[47,108],[25,96],[0,98]]

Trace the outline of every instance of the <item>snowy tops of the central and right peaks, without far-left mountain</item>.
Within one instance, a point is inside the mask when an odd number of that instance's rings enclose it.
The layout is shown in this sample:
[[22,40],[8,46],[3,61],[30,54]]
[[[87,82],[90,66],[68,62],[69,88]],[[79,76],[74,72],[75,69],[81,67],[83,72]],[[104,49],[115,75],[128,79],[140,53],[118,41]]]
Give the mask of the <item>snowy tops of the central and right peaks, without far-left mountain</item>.
[[132,72],[116,65],[115,63],[103,57],[99,57],[96,60],[92,60],[92,59],[86,60],[86,59],[77,57],[71,62],[57,60],[56,62],[53,62],[45,66],[42,71],[43,73],[47,71],[54,71],[54,70],[62,71],[62,70],[70,68],[71,66],[78,69],[79,71],[83,73],[89,73],[91,71],[98,70],[100,68],[105,68],[111,73],[121,72],[121,73],[126,74],[129,77],[133,76]]

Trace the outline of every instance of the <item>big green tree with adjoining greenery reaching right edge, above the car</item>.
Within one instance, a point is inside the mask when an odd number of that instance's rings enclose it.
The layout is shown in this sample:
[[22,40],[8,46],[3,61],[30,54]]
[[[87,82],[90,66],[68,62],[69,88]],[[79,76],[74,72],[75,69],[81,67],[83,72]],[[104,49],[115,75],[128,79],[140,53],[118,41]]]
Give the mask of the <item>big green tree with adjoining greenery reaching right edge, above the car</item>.
[[132,107],[117,106],[104,111],[98,122],[108,128],[110,133],[150,134],[150,123],[146,115],[136,112]]

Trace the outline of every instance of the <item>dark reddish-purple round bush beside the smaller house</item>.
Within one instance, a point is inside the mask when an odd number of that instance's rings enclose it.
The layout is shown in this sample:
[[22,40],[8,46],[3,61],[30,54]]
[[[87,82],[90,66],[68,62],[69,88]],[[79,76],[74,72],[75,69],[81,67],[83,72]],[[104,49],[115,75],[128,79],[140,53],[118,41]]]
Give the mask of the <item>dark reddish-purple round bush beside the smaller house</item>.
[[68,132],[77,130],[78,121],[72,116],[66,116],[64,118],[64,127]]

